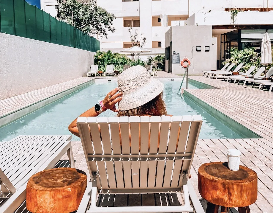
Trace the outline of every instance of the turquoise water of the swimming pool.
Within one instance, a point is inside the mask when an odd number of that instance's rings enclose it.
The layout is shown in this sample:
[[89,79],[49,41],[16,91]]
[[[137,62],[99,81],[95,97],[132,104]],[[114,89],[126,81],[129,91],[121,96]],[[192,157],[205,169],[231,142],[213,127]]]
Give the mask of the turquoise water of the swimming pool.
[[[162,80],[164,83],[164,100],[168,114],[195,115],[203,117],[200,132],[201,139],[242,138],[223,123],[206,113],[190,99],[178,93],[181,80]],[[93,107],[98,100],[117,86],[116,80],[96,79],[96,82],[75,91],[56,102],[53,102],[29,115],[24,116],[0,128],[0,141],[8,141],[18,135],[61,135],[70,134],[67,127],[80,114]],[[182,85],[186,87],[185,83]],[[189,88],[197,88],[189,83]],[[198,86],[200,88],[200,86]],[[115,116],[116,113],[106,111],[100,116]],[[73,136],[73,140],[78,137]]]

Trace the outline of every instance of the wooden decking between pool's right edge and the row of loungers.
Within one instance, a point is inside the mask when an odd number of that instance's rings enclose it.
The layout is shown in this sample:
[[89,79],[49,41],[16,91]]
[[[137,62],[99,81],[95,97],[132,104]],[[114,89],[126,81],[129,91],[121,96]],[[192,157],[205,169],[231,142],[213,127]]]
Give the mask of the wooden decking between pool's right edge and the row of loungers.
[[218,89],[187,92],[268,140],[273,139],[273,93],[203,76],[190,76]]

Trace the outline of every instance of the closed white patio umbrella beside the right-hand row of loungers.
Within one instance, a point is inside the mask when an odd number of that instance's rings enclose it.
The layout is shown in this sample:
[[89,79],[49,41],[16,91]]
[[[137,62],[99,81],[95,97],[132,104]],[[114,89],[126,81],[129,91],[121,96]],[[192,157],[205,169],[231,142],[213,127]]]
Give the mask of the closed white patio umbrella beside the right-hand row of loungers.
[[[261,65],[267,66],[272,64],[272,53],[271,53],[271,42],[268,32],[265,32],[262,39],[262,49],[261,49]],[[264,77],[266,70],[264,71]]]

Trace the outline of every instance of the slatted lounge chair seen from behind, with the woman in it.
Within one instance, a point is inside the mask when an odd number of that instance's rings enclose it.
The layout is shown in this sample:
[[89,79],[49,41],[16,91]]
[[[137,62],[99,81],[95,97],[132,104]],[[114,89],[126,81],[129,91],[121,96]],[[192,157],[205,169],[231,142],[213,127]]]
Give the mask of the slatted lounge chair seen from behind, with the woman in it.
[[[201,125],[200,115],[78,117],[91,182],[77,212],[193,212],[194,208],[195,212],[204,213],[188,179]],[[185,204],[97,207],[97,192],[183,192]]]

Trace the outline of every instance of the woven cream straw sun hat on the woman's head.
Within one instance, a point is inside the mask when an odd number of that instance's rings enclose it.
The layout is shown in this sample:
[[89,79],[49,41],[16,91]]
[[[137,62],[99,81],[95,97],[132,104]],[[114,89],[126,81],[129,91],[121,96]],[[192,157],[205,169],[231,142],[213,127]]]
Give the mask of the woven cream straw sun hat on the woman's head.
[[164,85],[151,77],[143,66],[133,66],[124,70],[118,77],[119,91],[122,99],[119,110],[129,110],[139,107],[157,97]]

